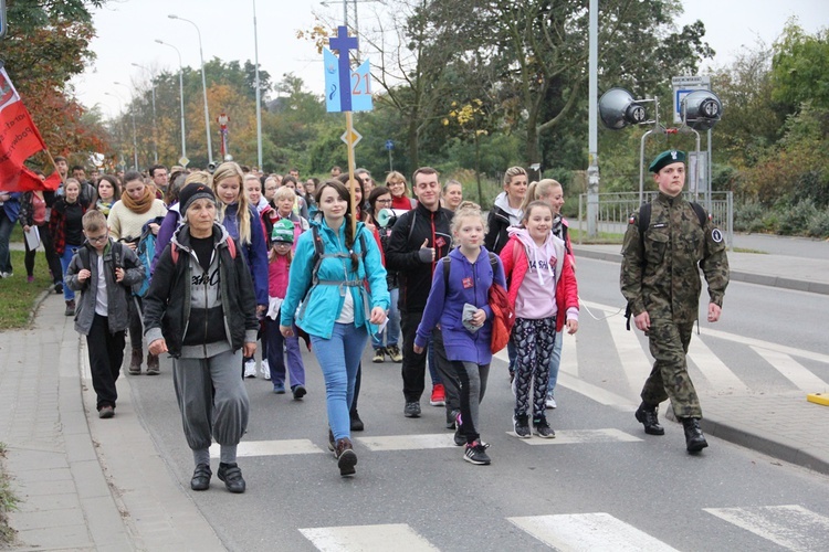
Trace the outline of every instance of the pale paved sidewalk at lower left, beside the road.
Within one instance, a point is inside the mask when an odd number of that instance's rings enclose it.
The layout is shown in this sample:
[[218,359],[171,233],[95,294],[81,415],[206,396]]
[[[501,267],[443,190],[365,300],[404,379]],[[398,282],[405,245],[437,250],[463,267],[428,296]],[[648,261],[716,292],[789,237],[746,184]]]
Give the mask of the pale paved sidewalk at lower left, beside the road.
[[136,415],[128,378],[114,423],[97,417],[86,343],[63,310],[44,295],[31,329],[0,333],[15,550],[224,550]]

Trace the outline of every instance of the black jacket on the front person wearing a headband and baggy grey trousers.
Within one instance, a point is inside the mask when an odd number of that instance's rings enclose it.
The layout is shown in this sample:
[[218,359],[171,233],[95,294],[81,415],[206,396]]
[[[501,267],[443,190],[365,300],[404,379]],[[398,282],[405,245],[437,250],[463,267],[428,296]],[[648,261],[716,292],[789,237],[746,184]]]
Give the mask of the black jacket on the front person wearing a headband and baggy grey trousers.
[[[242,255],[231,255],[228,240],[232,237],[227,231],[213,224],[213,258],[206,274],[190,248],[189,225],[174,235],[144,297],[148,343],[164,337],[172,357],[181,357],[182,348],[193,350],[196,346],[211,357],[227,350],[223,343],[237,351],[245,342],[255,342],[259,322],[253,280]],[[172,259],[174,245],[177,261]],[[218,286],[218,295],[212,286]],[[223,316],[216,316],[220,310]],[[190,354],[185,351],[185,355]]]

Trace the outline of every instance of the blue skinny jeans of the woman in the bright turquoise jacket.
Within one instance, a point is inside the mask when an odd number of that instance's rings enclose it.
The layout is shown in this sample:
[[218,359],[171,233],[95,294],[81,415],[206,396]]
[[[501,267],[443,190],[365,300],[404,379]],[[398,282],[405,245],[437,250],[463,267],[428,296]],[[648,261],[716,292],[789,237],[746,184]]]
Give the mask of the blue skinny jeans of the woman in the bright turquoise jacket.
[[325,379],[325,403],[334,439],[350,438],[348,411],[354,400],[354,383],[363,350],[368,341],[365,326],[334,323],[330,339],[311,336],[312,350]]

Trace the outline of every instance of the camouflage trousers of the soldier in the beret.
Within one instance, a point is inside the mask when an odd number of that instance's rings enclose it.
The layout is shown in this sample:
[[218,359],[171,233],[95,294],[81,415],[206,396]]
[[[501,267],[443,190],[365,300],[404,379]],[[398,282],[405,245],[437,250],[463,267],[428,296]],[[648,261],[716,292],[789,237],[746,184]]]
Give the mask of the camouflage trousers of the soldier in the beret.
[[688,373],[688,344],[694,322],[674,322],[671,319],[651,319],[648,331],[653,369],[642,388],[641,397],[647,404],[671,400],[676,417],[702,417],[700,397]]

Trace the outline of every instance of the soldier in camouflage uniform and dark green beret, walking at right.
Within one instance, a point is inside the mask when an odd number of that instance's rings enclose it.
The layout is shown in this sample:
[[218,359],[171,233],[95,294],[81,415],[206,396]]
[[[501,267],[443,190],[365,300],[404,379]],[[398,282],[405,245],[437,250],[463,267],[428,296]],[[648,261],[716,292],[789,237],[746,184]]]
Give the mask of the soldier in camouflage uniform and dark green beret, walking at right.
[[722,232],[706,215],[701,216],[704,211],[700,205],[682,198],[684,161],[684,152],[669,150],[657,156],[649,167],[660,193],[650,205],[644,235],[639,231],[641,211],[630,217],[622,246],[621,291],[636,327],[648,336],[655,359],[636,418],[647,434],[664,435],[657,408],[670,397],[685,429],[686,448],[696,453],[709,444],[700,429],[702,410],[685,354],[697,319],[700,268],[711,297],[707,320],[715,322],[728,285],[728,259]]

